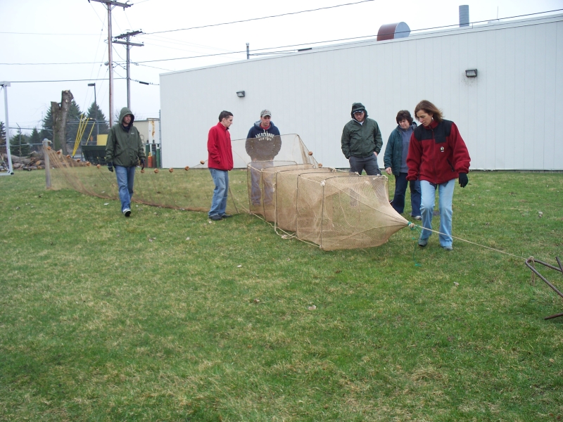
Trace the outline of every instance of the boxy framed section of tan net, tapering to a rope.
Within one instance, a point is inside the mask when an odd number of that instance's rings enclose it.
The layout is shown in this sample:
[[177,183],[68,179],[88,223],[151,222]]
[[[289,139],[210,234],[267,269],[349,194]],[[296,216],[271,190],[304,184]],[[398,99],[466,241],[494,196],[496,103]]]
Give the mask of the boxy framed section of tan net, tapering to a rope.
[[270,203],[251,205],[251,212],[324,250],[379,246],[408,224],[389,204],[385,176],[358,176],[312,165],[256,170],[251,163],[248,168],[248,174],[260,172],[262,193],[274,191]]

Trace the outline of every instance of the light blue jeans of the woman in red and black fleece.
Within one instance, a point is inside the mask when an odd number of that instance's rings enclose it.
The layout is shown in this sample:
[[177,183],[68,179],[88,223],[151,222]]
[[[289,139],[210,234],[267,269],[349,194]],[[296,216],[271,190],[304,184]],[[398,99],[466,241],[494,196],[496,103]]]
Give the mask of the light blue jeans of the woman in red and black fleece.
[[[432,215],[434,214],[434,203],[436,201],[436,188],[438,188],[438,210],[440,210],[440,245],[452,245],[452,199],[455,179],[441,184],[432,184],[429,181],[420,181],[420,191],[422,192],[422,226],[424,229],[432,229]],[[421,239],[427,239],[432,234],[431,231],[422,229]]]

